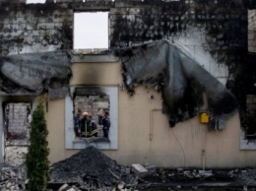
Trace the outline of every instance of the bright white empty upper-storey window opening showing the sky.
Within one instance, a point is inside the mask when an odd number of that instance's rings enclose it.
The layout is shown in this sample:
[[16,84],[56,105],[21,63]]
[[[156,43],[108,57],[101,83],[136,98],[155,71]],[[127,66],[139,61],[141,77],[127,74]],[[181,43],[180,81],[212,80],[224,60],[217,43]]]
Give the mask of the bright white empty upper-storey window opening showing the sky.
[[74,49],[108,49],[108,12],[74,13]]

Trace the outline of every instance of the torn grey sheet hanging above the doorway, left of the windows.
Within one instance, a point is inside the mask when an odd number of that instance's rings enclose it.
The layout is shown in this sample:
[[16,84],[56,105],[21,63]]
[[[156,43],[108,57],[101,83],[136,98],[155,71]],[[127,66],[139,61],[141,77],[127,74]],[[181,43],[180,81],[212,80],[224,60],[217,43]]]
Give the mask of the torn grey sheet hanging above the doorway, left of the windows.
[[27,53],[0,57],[0,95],[50,98],[66,96],[72,76],[66,51]]

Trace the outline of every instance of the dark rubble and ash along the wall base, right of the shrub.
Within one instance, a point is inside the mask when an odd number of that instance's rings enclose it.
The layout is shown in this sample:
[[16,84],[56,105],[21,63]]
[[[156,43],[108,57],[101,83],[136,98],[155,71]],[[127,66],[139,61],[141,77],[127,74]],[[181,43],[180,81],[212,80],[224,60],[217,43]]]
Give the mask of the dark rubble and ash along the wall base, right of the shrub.
[[132,166],[123,166],[109,159],[94,147],[82,150],[69,159],[52,164],[51,182],[69,183],[81,190],[171,190],[182,187],[192,190],[206,186],[254,189],[256,169],[163,169],[156,167],[146,176],[133,173]]

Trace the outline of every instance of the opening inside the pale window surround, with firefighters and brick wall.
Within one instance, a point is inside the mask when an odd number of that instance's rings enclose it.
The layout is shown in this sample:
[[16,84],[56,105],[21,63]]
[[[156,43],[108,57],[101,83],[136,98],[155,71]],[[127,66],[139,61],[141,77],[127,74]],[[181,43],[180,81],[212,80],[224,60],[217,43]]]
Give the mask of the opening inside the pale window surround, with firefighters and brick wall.
[[[79,92],[79,91],[78,91]],[[110,100],[95,91],[76,93],[74,98],[74,131],[77,140],[109,141]]]

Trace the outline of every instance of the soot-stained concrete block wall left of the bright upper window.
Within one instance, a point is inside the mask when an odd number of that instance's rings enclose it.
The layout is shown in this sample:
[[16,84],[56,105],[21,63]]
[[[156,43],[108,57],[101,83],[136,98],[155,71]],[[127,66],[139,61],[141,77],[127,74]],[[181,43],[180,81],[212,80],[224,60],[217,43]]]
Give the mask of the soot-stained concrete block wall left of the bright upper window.
[[59,4],[0,6],[0,54],[72,48],[73,10]]

